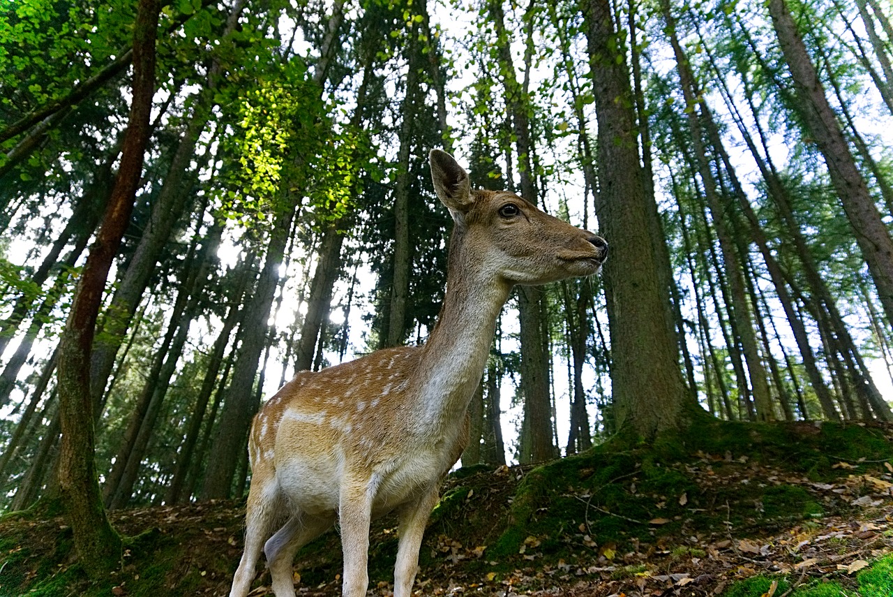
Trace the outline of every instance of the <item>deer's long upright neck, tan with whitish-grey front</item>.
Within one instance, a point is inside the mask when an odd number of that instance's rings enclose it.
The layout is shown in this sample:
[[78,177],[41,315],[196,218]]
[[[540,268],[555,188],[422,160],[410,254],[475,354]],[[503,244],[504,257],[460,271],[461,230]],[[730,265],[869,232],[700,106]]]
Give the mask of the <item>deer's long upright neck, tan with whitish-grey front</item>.
[[461,429],[487,365],[497,317],[512,285],[484,272],[485,261],[461,236],[454,237],[443,307],[422,348],[418,370],[420,431],[443,434]]

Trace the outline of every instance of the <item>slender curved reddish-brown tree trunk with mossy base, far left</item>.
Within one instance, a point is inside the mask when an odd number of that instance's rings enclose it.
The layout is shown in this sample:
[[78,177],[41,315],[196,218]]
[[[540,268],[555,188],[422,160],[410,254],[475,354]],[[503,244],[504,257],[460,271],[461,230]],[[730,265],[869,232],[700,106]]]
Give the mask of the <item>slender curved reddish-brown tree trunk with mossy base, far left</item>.
[[89,359],[105,280],[126,229],[143,168],[154,95],[158,0],[140,0],[133,41],[133,100],[118,178],[96,242],[81,273],[59,349],[62,444],[59,487],[81,566],[107,578],[121,558],[121,537],[105,517],[96,477],[95,427]]

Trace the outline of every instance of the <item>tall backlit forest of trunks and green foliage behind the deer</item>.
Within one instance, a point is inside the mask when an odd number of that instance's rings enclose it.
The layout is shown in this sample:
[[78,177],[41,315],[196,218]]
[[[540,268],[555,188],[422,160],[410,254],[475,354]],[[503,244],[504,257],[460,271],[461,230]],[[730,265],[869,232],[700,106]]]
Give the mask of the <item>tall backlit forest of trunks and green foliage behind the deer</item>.
[[516,292],[463,465],[893,420],[888,2],[0,5],[4,510],[68,491],[71,412],[106,508],[246,492],[265,394],[434,324],[432,147],[612,246]]

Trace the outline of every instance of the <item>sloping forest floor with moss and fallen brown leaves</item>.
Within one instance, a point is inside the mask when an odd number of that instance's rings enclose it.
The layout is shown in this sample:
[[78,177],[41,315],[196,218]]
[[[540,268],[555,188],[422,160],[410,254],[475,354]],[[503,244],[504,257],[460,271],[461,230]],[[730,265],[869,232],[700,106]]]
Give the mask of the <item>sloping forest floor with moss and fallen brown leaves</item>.
[[[605,446],[536,468],[460,469],[432,514],[417,593],[893,596],[893,428],[728,425],[681,451]],[[228,594],[244,502],[110,516],[128,547],[93,584],[62,517],[0,518],[0,595]],[[392,591],[395,525],[373,527],[371,595]],[[338,595],[338,535],[306,546],[295,570],[299,595]],[[259,565],[251,596],[269,583]]]

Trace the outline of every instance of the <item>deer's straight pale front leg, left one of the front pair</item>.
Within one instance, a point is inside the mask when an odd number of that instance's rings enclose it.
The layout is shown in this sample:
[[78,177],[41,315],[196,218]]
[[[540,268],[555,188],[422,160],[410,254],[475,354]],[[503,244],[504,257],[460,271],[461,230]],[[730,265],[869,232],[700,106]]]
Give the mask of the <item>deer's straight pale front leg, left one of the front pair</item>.
[[377,485],[373,478],[365,483],[346,481],[341,488],[338,522],[344,551],[343,597],[364,597],[369,585],[369,525]]

